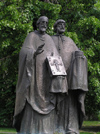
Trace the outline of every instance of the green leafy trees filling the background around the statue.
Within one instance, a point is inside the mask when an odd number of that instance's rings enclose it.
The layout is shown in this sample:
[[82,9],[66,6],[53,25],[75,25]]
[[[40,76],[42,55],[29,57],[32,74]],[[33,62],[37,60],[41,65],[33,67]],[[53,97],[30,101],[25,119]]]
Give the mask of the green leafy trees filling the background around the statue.
[[42,15],[49,18],[50,35],[54,34],[57,19],[66,21],[65,35],[88,59],[86,114],[93,119],[100,110],[100,0],[57,1],[58,4],[41,0],[0,1],[0,126],[12,125],[18,54],[26,35],[36,30],[36,21]]

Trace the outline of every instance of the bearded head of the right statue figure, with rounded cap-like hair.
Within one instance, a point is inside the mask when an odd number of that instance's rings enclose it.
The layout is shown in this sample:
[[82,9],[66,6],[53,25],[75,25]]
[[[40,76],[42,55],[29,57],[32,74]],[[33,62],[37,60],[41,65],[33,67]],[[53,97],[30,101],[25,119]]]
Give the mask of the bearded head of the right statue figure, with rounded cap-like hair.
[[59,19],[54,24],[54,32],[57,34],[62,34],[65,32],[65,21],[62,19]]

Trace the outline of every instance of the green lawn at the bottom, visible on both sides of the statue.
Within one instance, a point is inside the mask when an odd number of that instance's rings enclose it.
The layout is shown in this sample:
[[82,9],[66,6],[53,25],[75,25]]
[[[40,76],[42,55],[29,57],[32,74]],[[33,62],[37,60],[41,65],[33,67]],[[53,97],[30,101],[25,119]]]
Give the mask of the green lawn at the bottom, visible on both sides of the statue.
[[[16,134],[16,130],[14,128],[0,128],[0,134]],[[84,121],[80,134],[100,134],[100,121]]]

